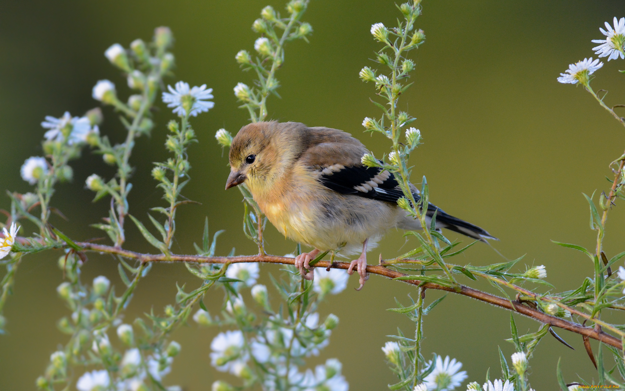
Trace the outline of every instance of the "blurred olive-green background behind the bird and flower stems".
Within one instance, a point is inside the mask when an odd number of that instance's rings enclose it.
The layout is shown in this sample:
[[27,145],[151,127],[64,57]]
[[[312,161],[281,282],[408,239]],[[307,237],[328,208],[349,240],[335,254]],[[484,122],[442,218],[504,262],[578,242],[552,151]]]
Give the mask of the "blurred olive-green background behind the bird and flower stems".
[[[253,243],[241,232],[241,196],[236,190],[224,191],[227,159],[213,136],[222,127],[236,133],[247,122],[247,113],[237,109],[232,88],[239,81],[250,83],[251,75],[241,73],[234,54],[252,50],[256,34],[250,26],[267,3],[280,10],[284,7],[275,0],[2,1],[2,193],[29,191],[19,166],[42,153],[39,123],[44,116],[58,117],[66,110],[78,115],[98,106],[91,98],[98,79],[111,79],[119,94],[128,96],[125,79],[104,58],[104,50],[116,42],[128,46],[135,38],[148,40],[154,27],[169,26],[176,37],[178,64],[169,83],[180,79],[191,85],[206,83],[214,88],[216,103],[192,121],[200,143],[190,151],[192,181],[185,193],[202,205],[179,210],[174,251],[194,253],[192,242],[201,240],[204,216],[208,216],[211,232],[226,230],[217,245],[220,255],[232,246],[237,254],[253,253]],[[372,85],[362,83],[357,74],[362,66],[375,65],[370,59],[378,44],[369,34],[371,24],[392,26],[398,15],[390,0],[312,0],[304,21],[312,24],[314,33],[309,44],[287,45],[286,61],[277,75],[282,99],[269,99],[271,118],[344,129],[381,156],[387,151],[387,140],[362,133],[362,118],[379,113],[369,102]],[[623,129],[589,94],[557,83],[556,77],[569,63],[594,56],[590,40],[602,38],[599,27],[614,16],[623,16],[620,1],[424,1],[423,15],[417,20],[427,40],[411,52],[417,64],[416,83],[401,103],[417,117],[416,126],[424,137],[424,145],[412,158],[414,181],[426,175],[433,203],[500,238],[492,246],[507,258],[527,254],[529,265],[546,265],[547,280],[561,290],[576,287],[592,268],[581,253],[549,240],[592,246],[594,235],[581,193],[608,188],[607,165],[621,155],[625,142]],[[625,101],[625,77],[617,73],[619,68],[625,68],[622,60],[610,61],[596,73],[594,86],[610,90],[609,104]],[[104,114],[102,133],[121,141],[123,129],[116,114],[108,108]],[[162,203],[149,171],[151,162],[166,159],[164,124],[170,118],[171,112],[161,104],[153,135],[141,138],[134,150],[130,205],[135,216],[146,216],[149,207]],[[110,178],[113,170],[89,151],[73,167],[74,182],[58,186],[53,199],[69,222],[54,217],[53,223],[76,240],[103,236],[89,224],[106,215],[108,203],[91,203],[93,193],[83,183],[94,172]],[[0,208],[8,206],[8,197],[2,196]],[[608,256],[624,250],[621,208],[618,205],[609,216]],[[128,226],[128,239],[129,249],[151,250],[133,226]],[[294,243],[272,227],[267,242],[268,250],[277,255],[294,250]],[[402,233],[393,231],[369,253],[369,259],[376,260],[379,252],[388,258],[413,245],[404,245]],[[34,389],[50,353],[66,342],[55,326],[68,313],[55,292],[62,280],[58,256],[29,256],[19,270],[15,294],[6,306],[8,334],[0,336],[1,390]],[[83,268],[85,281],[103,274],[121,283],[113,258],[95,254],[89,258]],[[478,243],[456,262],[484,265],[502,258]],[[261,272],[264,283],[269,283],[269,273],[279,274],[278,267],[268,265],[262,265]],[[174,301],[176,282],[187,287],[199,283],[183,265],[155,265],[128,308],[128,321],[151,307],[162,311]],[[484,284],[472,285],[492,292]],[[352,287],[357,287],[356,277],[346,291],[321,306],[322,317],[336,313],[341,324],[331,345],[310,363],[337,357],[351,390],[386,390],[395,378],[380,350],[385,335],[396,333],[397,325],[407,334],[414,332],[407,318],[386,308],[394,307],[393,297],[406,303],[407,293],[415,291],[376,276],[362,292]],[[438,296],[429,292],[427,300]],[[215,311],[221,294],[216,291],[211,298],[209,310]],[[622,323],[622,315],[617,316]],[[508,322],[506,311],[449,295],[426,318],[424,352],[457,358],[469,373],[467,382],[483,382],[487,368],[491,367],[491,378],[499,373],[497,345],[507,357],[513,352],[504,341],[509,338]],[[519,332],[533,332],[538,326],[521,317],[517,325]],[[207,390],[217,378],[228,379],[209,365],[209,345],[216,333],[191,322],[174,334],[183,350],[168,376],[169,384]],[[576,380],[576,374],[586,380],[596,378],[582,338],[559,333],[577,350],[546,337],[531,361],[530,379],[536,390],[557,388],[558,357],[568,382]]]

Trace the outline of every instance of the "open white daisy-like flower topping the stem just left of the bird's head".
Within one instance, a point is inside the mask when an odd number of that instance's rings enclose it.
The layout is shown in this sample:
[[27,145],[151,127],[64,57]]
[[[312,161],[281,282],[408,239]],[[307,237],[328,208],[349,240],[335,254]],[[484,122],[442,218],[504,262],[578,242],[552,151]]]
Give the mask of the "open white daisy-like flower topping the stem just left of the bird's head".
[[174,108],[174,113],[185,116],[187,110],[189,115],[197,116],[212,109],[215,104],[206,99],[212,99],[212,88],[206,89],[206,84],[189,88],[189,83],[179,81],[176,89],[167,86],[169,93],[163,93],[163,103],[168,103],[169,108]]

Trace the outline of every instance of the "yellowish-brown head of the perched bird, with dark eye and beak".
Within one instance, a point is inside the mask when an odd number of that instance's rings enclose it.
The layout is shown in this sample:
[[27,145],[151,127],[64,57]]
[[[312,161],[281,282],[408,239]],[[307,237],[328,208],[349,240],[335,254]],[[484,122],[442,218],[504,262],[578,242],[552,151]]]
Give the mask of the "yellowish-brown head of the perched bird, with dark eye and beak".
[[300,123],[258,122],[243,126],[232,139],[226,190],[247,183],[252,193],[271,191],[304,148]]

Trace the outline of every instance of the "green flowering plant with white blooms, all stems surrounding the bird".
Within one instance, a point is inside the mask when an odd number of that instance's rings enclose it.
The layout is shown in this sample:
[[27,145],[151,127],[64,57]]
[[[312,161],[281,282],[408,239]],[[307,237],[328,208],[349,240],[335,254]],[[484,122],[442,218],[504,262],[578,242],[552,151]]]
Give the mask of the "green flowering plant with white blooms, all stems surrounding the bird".
[[[241,68],[253,71],[256,76],[251,86],[238,83],[234,87],[236,99],[242,103],[242,108],[247,109],[252,122],[262,121],[269,115],[267,98],[270,94],[279,96],[280,83],[276,73],[285,64],[285,44],[300,38],[307,40],[312,32],[310,24],[302,21],[308,5],[307,0],[289,1],[286,18],[271,6],[263,8],[261,18],[252,24],[252,29],[261,34],[254,42],[257,55],[252,56],[245,50],[236,54],[235,60]],[[425,34],[416,28],[417,17],[422,12],[420,0],[408,1],[397,8],[401,18],[396,26],[372,24],[370,33],[381,44],[381,49],[376,52],[375,65],[364,66],[359,72],[362,81],[374,87],[377,99],[374,104],[381,109],[378,116],[364,118],[362,126],[366,131],[382,135],[390,144],[389,153],[382,159],[366,153],[361,162],[394,174],[404,194],[397,205],[421,227],[419,231],[406,233],[416,241],[414,249],[367,267],[369,273],[416,287],[416,300],[410,297],[407,305],[397,301],[397,308],[389,308],[391,312],[406,315],[414,323],[414,336],[411,332],[407,337],[408,334],[398,329],[397,335],[388,336],[392,340],[381,347],[389,368],[397,376],[397,382],[389,388],[451,391],[461,387],[465,380],[474,378],[473,374],[469,377],[462,370],[462,363],[455,358],[424,352],[421,346],[424,319],[445,298],[442,296],[429,302],[427,290],[476,298],[511,311],[511,338],[507,342],[514,347],[514,353],[507,356],[499,349],[501,377],[491,380],[488,370],[484,383],[470,382],[466,385],[467,390],[533,391],[529,360],[537,352],[542,338],[551,334],[569,346],[554,328],[582,335],[586,353],[597,368],[598,385],[610,383],[625,387],[625,325],[608,322],[607,317],[601,316],[606,311],[625,309],[622,296],[625,294],[625,268],[618,264],[625,257],[625,251],[608,258],[602,247],[607,215],[617,199],[625,198],[625,155],[612,161],[614,179],[610,190],[597,197],[598,203],[594,196],[584,195],[589,205],[591,230],[596,231],[593,234],[596,235],[596,248],[589,250],[555,242],[588,256],[592,264],[591,277],[585,278],[578,288],[554,293],[556,288],[546,281],[544,265],[516,270],[522,257],[485,266],[451,262],[450,258],[466,253],[474,243],[459,247],[459,242],[450,241],[436,229],[436,214],[427,216],[424,212],[429,198],[425,177],[420,192],[411,186],[411,167],[407,162],[421,145],[422,134],[413,126],[416,118],[401,111],[405,104],[400,98],[411,86],[408,81],[416,68],[409,54],[424,43]],[[606,39],[592,41],[600,44],[592,48],[599,58],[585,58],[570,64],[557,81],[581,85],[625,126],[625,119],[614,112],[614,108],[623,105],[607,106],[605,94],[599,96],[601,94],[591,87],[593,78],[603,66],[601,58],[607,57],[607,61],[625,59],[625,18],[614,18],[613,26],[606,23],[606,30],[601,28],[600,31]],[[21,167],[22,178],[34,186],[33,190],[24,194],[9,193],[11,208],[4,213],[7,219],[0,226],[0,262],[6,267],[0,282],[0,331],[7,326],[1,315],[2,308],[24,257],[38,251],[56,250],[61,252],[58,267],[64,277],[57,293],[69,309],[68,316],[59,320],[58,328],[68,335],[68,340],[51,355],[46,370],[37,378],[40,389],[75,386],[80,391],[181,390],[176,385],[166,385],[166,375],[171,372],[174,358],[182,348],[171,340],[171,334],[191,318],[201,327],[226,329],[212,340],[209,357],[217,371],[234,375],[238,383],[231,385],[225,380],[217,380],[212,383],[214,391],[251,388],[346,391],[349,385],[338,358],[325,358],[314,369],[306,368],[306,365],[310,357],[322,354],[330,343],[333,330],[339,325],[339,317],[321,313],[319,303],[332,300],[333,295],[346,288],[348,276],[345,269],[349,263],[334,262],[334,252],[330,260],[324,260],[327,253],[321,254],[311,262],[315,267],[314,279],[309,280],[302,278],[293,266],[294,256],[302,253],[300,245],[294,254],[268,255],[264,250],[263,236],[266,218],[245,186],[239,186],[245,201],[243,229],[244,235],[258,246],[256,255],[236,256],[232,249],[227,256],[216,256],[216,241],[221,231],[214,233],[211,239],[207,220],[202,241],[194,246],[196,254],[179,255],[171,250],[176,236],[176,211],[180,206],[194,202],[183,195],[184,186],[191,180],[189,146],[197,142],[192,121],[214,108],[214,102],[209,100],[214,98],[212,89],[206,84],[189,86],[178,81],[171,86],[164,81],[173,76],[172,43],[171,31],[160,27],[154,31],[149,43],[136,39],[128,49],[113,44],[104,53],[108,61],[122,71],[129,88],[135,92],[123,101],[115,84],[109,80],[98,81],[92,91],[94,99],[112,106],[120,114],[121,124],[126,129],[123,143],[112,145],[106,135],[101,135],[99,126],[103,114],[99,108],[91,109],[83,116],[72,116],[69,112],[60,118],[46,116],[41,123],[45,129],[44,156],[31,156]],[[161,91],[165,85],[166,90]],[[166,126],[165,148],[171,156],[166,161],[154,163],[151,171],[158,188],[163,191],[164,205],[152,208],[156,217],[148,215],[150,224],[146,226],[130,213],[128,193],[133,188],[129,181],[133,173],[130,160],[136,138],[149,135],[155,128],[151,109],[158,104],[159,97],[172,109],[171,115],[175,119]],[[226,129],[219,129],[215,137],[223,148],[231,146],[232,135]],[[95,193],[94,201],[105,197],[110,201],[108,215],[103,217],[103,222],[94,225],[107,233],[109,245],[73,240],[49,221],[52,213],[61,214],[51,205],[55,186],[73,179],[69,163],[88,147],[116,168],[116,175],[108,180],[96,173],[85,179],[86,187]],[[155,253],[138,253],[124,248],[127,218],[156,249]],[[36,231],[29,236],[27,230],[32,228]],[[24,236],[18,236],[20,232]],[[89,283],[81,280],[81,268],[89,251],[116,257],[123,282],[121,290],[118,288],[116,292],[116,287],[106,276],[96,277]],[[163,313],[152,311],[134,322],[123,323],[124,310],[133,293],[158,262],[184,263],[189,273],[199,279],[197,286],[191,290],[178,287],[173,303],[167,305]],[[286,265],[281,275],[271,276],[272,287],[257,283],[261,275],[259,263]],[[612,268],[616,269],[617,265],[617,272],[612,273]],[[478,278],[491,283],[501,296],[462,283],[462,279],[471,283]],[[219,313],[211,314],[204,299],[210,295],[214,301],[216,290],[222,296],[222,305]],[[519,335],[514,312],[539,322],[537,331]],[[599,342],[597,354],[592,351],[591,338]],[[611,369],[605,366],[606,350],[613,356],[614,367]],[[559,387],[564,391],[590,385],[583,379],[567,383],[562,375],[561,362],[554,368]]]

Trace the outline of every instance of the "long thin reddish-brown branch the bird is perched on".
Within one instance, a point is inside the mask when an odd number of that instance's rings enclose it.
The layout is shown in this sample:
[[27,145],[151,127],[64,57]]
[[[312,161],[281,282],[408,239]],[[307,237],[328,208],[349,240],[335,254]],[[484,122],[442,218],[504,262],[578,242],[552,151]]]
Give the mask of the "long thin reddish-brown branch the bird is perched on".
[[[88,251],[97,251],[99,253],[109,253],[115,255],[125,256],[126,258],[133,258],[139,260],[140,262],[194,262],[194,263],[239,263],[239,262],[265,262],[265,263],[282,263],[286,265],[293,265],[295,263],[295,258],[286,258],[284,256],[275,256],[275,255],[247,255],[247,256],[199,256],[199,255],[153,255],[153,254],[143,254],[137,253],[135,251],[123,250],[121,248],[116,248],[112,246],[98,245],[95,243],[87,243],[87,242],[77,242],[76,245],[81,246],[84,250]],[[330,263],[329,261],[319,261],[314,267],[323,267],[323,268],[337,268],[337,269],[347,269],[349,267],[349,263],[347,262],[334,262]],[[372,274],[381,275],[387,278],[397,278],[404,277],[404,273],[395,272],[394,270],[389,270],[386,267],[379,265],[369,265],[367,266],[367,272]],[[421,285],[421,281],[419,280],[402,280],[402,282],[411,284],[411,285]],[[584,327],[578,323],[569,322],[567,320],[553,317],[551,315],[547,315],[544,312],[536,310],[534,308],[528,307],[527,305],[523,305],[521,302],[516,300],[507,300],[506,298],[501,298],[495,295],[491,295],[490,293],[482,292],[480,290],[476,290],[473,288],[466,287],[464,285],[459,285],[459,289],[443,287],[442,285],[438,285],[436,283],[424,283],[422,287],[426,289],[437,289],[444,290],[446,292],[458,293],[463,296],[472,297],[481,302],[489,303],[495,305],[496,307],[506,308],[506,310],[511,310],[521,315],[525,315],[528,318],[532,318],[537,320],[538,322],[545,323],[551,326],[559,327],[564,330],[569,330],[571,332],[580,334],[587,338],[592,338],[606,345],[610,345],[619,350],[622,350],[622,344],[620,338],[616,338],[608,333],[602,332],[601,330],[597,331],[592,327]],[[531,293],[528,291],[528,293]],[[533,295],[533,293],[531,293]]]

